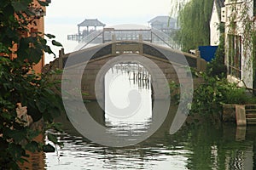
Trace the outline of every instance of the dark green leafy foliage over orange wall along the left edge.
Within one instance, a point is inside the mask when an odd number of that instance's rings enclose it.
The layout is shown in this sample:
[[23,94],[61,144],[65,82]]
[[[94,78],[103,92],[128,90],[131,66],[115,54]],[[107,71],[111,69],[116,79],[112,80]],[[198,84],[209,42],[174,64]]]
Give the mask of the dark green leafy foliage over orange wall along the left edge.
[[[42,6],[48,3],[37,0]],[[18,163],[26,161],[26,150],[32,152],[45,148],[43,141],[35,141],[48,128],[59,129],[53,118],[60,113],[61,98],[44,75],[36,75],[32,65],[37,64],[44,52],[53,54],[44,36],[29,29],[41,16],[40,8],[32,0],[1,0],[0,3],[0,165],[1,169],[19,169]],[[9,56],[13,56],[9,58]],[[17,103],[26,106],[33,122],[44,121],[41,129],[25,126],[26,121],[17,117]],[[49,140],[57,143],[55,136]]]

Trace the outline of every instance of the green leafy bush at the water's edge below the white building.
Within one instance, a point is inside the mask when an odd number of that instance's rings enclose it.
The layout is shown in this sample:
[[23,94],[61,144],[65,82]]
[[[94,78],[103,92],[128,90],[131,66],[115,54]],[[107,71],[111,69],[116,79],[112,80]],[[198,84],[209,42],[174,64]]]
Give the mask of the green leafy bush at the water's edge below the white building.
[[238,88],[225,78],[208,77],[201,73],[203,84],[195,89],[192,103],[192,114],[216,114],[222,111],[223,104],[253,104],[256,99],[247,93],[246,88]]

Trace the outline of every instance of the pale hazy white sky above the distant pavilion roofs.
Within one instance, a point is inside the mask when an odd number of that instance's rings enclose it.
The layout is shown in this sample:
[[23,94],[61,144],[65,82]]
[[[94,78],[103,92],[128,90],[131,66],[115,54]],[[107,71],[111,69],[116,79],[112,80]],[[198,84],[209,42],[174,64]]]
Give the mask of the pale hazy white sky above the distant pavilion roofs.
[[170,13],[172,0],[52,0],[49,23],[75,23],[99,19],[108,24],[147,23],[155,15]]

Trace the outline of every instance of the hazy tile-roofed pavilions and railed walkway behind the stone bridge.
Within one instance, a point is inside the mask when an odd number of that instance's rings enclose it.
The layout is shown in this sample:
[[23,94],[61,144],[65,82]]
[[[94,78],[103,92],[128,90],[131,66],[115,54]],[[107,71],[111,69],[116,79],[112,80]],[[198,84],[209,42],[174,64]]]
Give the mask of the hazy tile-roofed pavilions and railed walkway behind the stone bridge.
[[[177,31],[177,22],[169,16],[157,16],[148,21],[151,26],[122,24],[105,27],[99,20],[85,19],[81,22],[79,33],[67,35],[67,40],[78,41],[79,45],[75,50],[88,48],[97,44],[110,41],[147,41],[154,42],[169,48],[180,49],[180,46],[173,41],[172,35]],[[85,27],[81,30],[81,27]]]

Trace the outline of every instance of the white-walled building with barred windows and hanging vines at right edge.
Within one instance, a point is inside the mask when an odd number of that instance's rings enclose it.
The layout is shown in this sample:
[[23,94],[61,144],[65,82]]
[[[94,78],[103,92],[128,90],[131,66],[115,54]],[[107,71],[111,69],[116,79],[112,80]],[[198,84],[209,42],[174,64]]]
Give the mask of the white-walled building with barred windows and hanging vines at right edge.
[[[255,0],[225,0],[221,10],[221,20],[225,27],[225,65],[228,79],[247,88],[256,88],[253,72],[253,6]],[[252,27],[248,29],[246,26]]]

